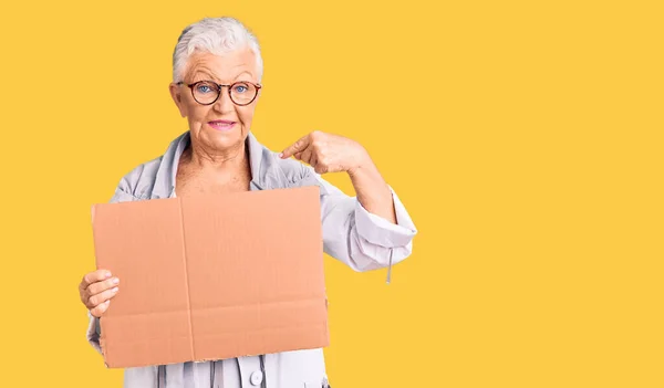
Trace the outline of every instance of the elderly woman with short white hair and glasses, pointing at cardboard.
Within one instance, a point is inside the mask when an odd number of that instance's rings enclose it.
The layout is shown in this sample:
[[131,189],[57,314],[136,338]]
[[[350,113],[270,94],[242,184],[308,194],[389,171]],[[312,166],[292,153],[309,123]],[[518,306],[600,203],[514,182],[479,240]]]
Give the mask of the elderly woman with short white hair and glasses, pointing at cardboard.
[[[231,18],[187,27],[175,46],[170,95],[187,132],[165,154],[128,172],[111,202],[318,185],[323,248],[355,271],[388,268],[411,254],[415,227],[366,150],[336,135],[313,132],[273,153],[252,135],[262,60],[256,38]],[[294,159],[291,158],[294,157]],[[297,160],[295,160],[297,159]],[[300,161],[302,162],[300,162]],[[321,178],[344,171],[356,197]],[[87,338],[101,352],[98,318],[122,290],[98,270],[83,276]],[[125,387],[326,387],[322,349],[205,363],[127,368]]]

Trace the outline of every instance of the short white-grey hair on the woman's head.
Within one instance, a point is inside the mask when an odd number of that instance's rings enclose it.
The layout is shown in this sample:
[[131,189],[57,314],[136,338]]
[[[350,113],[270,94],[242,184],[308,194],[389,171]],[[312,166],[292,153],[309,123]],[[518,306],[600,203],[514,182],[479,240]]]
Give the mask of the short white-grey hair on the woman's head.
[[173,52],[173,82],[183,81],[185,65],[195,51],[224,55],[247,48],[256,55],[260,83],[263,63],[258,39],[242,23],[237,19],[225,17],[205,18],[189,24],[179,35]]

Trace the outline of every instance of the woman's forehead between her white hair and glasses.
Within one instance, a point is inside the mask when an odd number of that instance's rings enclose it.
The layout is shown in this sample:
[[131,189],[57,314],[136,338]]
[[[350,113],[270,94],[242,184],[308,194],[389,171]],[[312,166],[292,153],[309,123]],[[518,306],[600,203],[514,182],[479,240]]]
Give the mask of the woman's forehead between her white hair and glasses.
[[197,52],[191,54],[187,61],[185,76],[187,78],[212,80],[228,82],[241,75],[255,78],[256,55],[249,49],[236,50],[222,55],[209,52]]

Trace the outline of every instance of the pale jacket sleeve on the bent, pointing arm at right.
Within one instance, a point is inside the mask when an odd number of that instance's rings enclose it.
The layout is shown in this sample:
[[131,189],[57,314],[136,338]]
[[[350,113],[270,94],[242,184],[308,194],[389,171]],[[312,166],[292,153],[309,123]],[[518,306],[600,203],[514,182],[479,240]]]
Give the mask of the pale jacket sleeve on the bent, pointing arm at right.
[[321,190],[323,250],[357,272],[391,268],[408,258],[417,230],[406,208],[390,187],[396,224],[369,212],[311,169]]

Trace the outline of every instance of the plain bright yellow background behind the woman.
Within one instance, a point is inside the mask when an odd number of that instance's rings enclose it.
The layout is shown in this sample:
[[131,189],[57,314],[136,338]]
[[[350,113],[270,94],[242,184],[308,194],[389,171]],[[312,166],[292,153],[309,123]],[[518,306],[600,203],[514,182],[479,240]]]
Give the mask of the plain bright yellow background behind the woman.
[[663,387],[660,4],[3,2],[0,386],[121,385],[85,342],[90,206],[186,130],[181,29],[234,15],[258,138],[361,141],[419,230],[391,285],[326,258],[333,387]]

